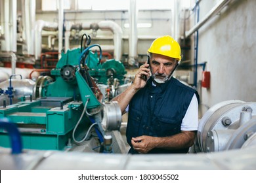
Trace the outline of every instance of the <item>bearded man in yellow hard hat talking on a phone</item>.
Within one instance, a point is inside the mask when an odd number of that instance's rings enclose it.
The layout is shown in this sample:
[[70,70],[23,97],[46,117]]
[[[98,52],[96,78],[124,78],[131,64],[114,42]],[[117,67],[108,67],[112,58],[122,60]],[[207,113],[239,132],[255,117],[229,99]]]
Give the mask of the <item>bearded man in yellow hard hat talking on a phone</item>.
[[187,153],[194,143],[199,96],[172,77],[180,60],[179,43],[170,36],[159,37],[131,86],[112,99],[123,114],[129,110],[129,153]]

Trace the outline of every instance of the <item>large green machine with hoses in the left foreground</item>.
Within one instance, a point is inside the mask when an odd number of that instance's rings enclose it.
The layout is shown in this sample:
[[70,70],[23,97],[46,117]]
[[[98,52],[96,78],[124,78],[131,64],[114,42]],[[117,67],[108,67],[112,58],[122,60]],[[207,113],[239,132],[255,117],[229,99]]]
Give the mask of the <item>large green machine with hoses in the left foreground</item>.
[[[9,118],[20,130],[24,148],[65,150],[70,144],[81,142],[75,140],[75,136],[81,139],[81,134],[85,134],[91,127],[94,127],[98,135],[98,143],[104,142],[106,129],[101,125],[102,93],[90,73],[99,76],[98,81],[102,82],[106,82],[108,76],[100,59],[89,50],[93,46],[100,48],[98,44],[94,44],[85,49],[77,48],[68,50],[66,54],[62,53],[51,76],[37,78],[33,87],[33,99],[30,97],[26,100],[24,97],[18,103],[0,107],[0,118]],[[90,67],[94,64],[97,72],[87,67],[87,62]],[[115,124],[112,129],[118,129],[121,126],[121,111],[119,112],[117,105],[114,108],[118,120],[111,122]],[[107,110],[110,108],[107,107]],[[0,129],[0,146],[9,145],[8,134]]]

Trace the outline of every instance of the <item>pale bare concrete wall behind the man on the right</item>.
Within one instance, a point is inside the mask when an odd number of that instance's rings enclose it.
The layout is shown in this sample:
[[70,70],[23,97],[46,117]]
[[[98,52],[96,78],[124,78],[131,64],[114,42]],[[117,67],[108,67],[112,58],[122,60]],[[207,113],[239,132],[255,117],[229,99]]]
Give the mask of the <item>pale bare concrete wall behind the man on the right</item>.
[[[214,5],[201,1],[200,18]],[[256,101],[255,10],[256,1],[231,1],[199,29],[198,63],[207,61],[206,70],[211,72],[211,88],[202,88],[203,105],[231,99]]]

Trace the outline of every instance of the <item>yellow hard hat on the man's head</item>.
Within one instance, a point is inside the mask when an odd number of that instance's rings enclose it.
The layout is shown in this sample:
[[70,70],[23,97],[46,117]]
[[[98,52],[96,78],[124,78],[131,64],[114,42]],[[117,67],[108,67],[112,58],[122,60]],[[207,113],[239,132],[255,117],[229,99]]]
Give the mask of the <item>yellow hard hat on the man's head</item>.
[[169,35],[155,39],[148,49],[148,52],[175,58],[179,61],[181,60],[181,46]]

